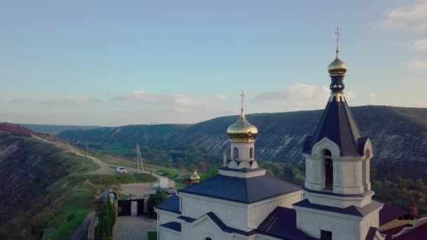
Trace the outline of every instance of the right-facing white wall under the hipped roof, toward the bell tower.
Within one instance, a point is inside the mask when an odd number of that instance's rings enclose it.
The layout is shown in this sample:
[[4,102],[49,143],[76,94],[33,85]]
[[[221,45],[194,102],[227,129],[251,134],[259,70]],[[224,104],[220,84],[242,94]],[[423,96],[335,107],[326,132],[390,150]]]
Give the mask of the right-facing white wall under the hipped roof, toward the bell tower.
[[257,228],[277,206],[292,208],[292,204],[303,200],[303,191],[291,192],[265,201],[249,204],[248,227]]

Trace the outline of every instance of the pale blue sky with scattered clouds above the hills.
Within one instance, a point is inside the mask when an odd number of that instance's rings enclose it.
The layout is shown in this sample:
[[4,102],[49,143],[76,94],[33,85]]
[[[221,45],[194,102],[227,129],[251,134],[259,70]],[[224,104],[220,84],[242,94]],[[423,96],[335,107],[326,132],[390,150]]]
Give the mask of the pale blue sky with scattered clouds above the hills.
[[427,107],[427,1],[0,0],[0,122],[195,124],[350,106]]

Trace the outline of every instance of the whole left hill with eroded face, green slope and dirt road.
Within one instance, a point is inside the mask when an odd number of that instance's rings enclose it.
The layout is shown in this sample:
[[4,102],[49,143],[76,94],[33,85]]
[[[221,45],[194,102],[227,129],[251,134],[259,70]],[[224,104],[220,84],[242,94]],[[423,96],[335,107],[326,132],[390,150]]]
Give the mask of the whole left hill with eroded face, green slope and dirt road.
[[[103,160],[101,160],[102,158]],[[128,174],[114,173],[123,164]],[[157,173],[174,169],[145,166],[136,173],[132,162],[112,156],[86,154],[81,149],[42,135],[0,136],[1,227],[0,239],[68,239],[88,213],[102,189],[117,189],[121,198],[153,192]],[[178,171],[175,175],[185,176]],[[171,186],[175,185],[172,180]]]

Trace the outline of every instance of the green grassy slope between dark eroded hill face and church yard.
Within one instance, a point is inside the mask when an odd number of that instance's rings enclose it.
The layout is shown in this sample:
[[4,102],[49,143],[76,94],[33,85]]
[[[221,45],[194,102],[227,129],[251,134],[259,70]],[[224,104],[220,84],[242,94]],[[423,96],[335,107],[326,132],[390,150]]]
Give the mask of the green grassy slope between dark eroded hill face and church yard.
[[[34,148],[32,151],[53,148],[52,145],[39,140],[23,139]],[[67,175],[56,182],[51,182],[46,194],[37,199],[32,208],[18,213],[9,225],[1,226],[0,236],[1,232],[4,232],[6,236],[11,236],[11,239],[39,239],[39,232],[44,229],[44,239],[69,239],[74,229],[79,227],[93,209],[93,185],[111,183],[119,185],[157,180],[149,174],[91,174],[91,171],[99,168],[93,161],[84,156],[61,151],[63,149],[60,149],[52,161],[58,161],[66,166]]]

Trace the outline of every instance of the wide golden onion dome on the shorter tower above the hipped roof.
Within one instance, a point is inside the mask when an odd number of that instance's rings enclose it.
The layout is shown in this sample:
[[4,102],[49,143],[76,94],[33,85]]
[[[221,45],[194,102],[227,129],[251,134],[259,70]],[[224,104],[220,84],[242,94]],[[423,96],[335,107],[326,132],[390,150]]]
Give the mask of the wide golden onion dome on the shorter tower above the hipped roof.
[[250,140],[255,139],[256,135],[258,135],[258,128],[247,121],[242,111],[235,124],[227,128],[227,134],[231,139]]

